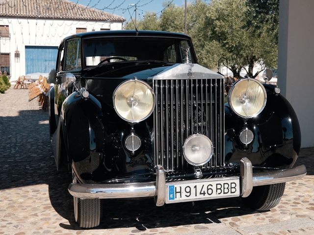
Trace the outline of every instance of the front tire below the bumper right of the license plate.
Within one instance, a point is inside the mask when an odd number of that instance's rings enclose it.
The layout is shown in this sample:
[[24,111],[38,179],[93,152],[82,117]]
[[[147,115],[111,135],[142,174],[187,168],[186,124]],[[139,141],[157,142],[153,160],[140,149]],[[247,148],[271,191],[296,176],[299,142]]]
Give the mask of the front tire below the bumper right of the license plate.
[[248,197],[243,197],[245,205],[256,211],[268,211],[278,205],[285,191],[286,183],[253,187]]

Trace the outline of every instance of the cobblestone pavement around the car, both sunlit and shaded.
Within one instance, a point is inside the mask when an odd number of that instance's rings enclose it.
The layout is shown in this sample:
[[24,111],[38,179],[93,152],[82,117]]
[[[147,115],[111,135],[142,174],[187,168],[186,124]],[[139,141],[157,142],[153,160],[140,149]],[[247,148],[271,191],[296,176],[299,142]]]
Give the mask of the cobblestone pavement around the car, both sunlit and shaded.
[[56,172],[48,113],[27,90],[0,94],[0,235],[287,235],[314,234],[314,148],[302,149],[303,180],[287,183],[276,208],[259,213],[240,198],[170,204],[152,199],[105,201],[100,227],[82,230],[67,191],[71,174]]

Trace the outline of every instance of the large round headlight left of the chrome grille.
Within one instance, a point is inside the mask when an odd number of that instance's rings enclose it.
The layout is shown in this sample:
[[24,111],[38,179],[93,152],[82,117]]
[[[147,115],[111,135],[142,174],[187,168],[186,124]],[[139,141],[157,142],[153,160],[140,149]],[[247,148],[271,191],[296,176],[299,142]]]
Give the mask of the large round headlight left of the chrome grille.
[[147,83],[137,79],[128,80],[114,91],[113,106],[122,119],[139,122],[153,112],[155,94]]

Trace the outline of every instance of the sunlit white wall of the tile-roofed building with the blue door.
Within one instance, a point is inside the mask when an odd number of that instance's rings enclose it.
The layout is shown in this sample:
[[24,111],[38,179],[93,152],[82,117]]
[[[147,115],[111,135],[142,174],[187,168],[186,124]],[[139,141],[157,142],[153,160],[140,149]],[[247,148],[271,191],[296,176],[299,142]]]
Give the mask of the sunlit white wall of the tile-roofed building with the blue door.
[[[10,18],[0,18],[0,25],[9,25],[10,38],[0,39],[0,52],[10,53],[11,81],[25,75],[25,46],[58,47],[63,38],[76,33],[76,28],[87,28],[87,31],[98,31],[101,28],[122,29],[122,23],[115,22]],[[20,63],[15,63],[16,48],[20,51]]]

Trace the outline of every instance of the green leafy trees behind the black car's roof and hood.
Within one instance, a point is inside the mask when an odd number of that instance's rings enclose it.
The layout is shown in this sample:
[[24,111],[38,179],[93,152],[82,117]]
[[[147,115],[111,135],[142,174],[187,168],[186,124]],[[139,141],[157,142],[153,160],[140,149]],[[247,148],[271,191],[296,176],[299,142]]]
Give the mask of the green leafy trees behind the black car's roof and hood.
[[[243,68],[256,77],[257,63],[261,71],[277,67],[278,19],[279,0],[194,0],[187,6],[187,34],[199,64],[215,68],[225,57],[236,77]],[[149,13],[137,28],[184,32],[184,7],[170,4],[160,18]],[[126,29],[134,29],[133,24],[129,22]]]

